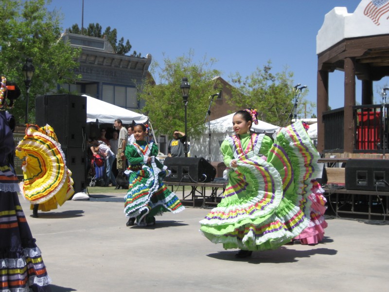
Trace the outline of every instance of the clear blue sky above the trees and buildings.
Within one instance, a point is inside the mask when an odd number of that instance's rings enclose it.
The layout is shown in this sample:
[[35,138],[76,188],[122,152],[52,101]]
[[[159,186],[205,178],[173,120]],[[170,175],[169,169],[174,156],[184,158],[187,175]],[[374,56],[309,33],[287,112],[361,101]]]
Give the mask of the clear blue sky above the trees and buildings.
[[[98,22],[103,30],[116,28],[118,37],[129,39],[132,50],[151,54],[163,63],[163,55],[195,53],[215,58],[212,68],[230,80],[231,73],[247,76],[271,60],[273,73],[287,66],[295,84],[307,85],[306,98],[316,102],[316,36],[326,13],[347,7],[353,13],[358,0],[84,0],[84,27]],[[62,27],[81,27],[82,0],[53,0],[49,10],[63,15]],[[342,72],[330,74],[329,103],[343,107]],[[380,103],[380,89],[388,77],[374,83],[374,97]],[[360,102],[360,84],[357,81]],[[316,110],[315,110],[316,113]]]

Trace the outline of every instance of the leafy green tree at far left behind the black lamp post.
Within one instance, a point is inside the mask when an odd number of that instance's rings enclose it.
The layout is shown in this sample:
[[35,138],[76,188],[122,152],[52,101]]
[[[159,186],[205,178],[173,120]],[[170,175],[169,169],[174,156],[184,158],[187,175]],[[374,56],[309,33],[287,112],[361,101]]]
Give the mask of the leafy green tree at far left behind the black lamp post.
[[35,96],[55,90],[57,84],[72,83],[80,50],[59,41],[59,16],[49,12],[46,0],[2,0],[0,18],[0,68],[8,80],[15,81],[22,96],[11,112],[21,123],[25,115],[22,67],[27,57],[33,59],[35,74],[30,87],[29,120],[35,120]]

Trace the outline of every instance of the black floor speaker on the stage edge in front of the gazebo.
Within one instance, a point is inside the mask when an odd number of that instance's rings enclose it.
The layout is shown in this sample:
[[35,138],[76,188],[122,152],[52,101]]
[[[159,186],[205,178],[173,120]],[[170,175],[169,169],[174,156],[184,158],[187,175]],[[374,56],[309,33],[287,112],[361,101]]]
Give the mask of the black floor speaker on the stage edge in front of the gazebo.
[[[349,190],[389,191],[389,161],[349,159],[346,162],[345,186]],[[387,182],[387,183],[385,183]]]

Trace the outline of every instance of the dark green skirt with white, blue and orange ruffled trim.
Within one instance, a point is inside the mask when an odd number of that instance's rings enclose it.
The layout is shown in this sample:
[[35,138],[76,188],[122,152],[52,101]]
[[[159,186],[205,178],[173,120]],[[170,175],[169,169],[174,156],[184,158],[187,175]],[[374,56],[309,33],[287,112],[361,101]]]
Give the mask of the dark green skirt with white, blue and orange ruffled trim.
[[162,179],[166,176],[166,166],[159,169],[154,161],[142,165],[139,170],[131,171],[129,188],[124,196],[124,213],[128,218],[137,218],[146,223],[163,212],[178,213],[185,209],[176,194],[171,192]]

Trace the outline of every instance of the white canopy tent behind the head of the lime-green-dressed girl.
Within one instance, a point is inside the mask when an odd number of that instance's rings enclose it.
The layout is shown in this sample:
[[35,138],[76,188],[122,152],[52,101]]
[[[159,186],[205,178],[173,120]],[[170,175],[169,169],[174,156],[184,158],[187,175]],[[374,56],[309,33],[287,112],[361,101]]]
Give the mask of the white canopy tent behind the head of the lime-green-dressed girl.
[[[234,113],[211,121],[210,125],[205,124],[206,131],[198,139],[191,140],[191,157],[204,157],[209,159],[209,128],[211,128],[211,162],[223,161],[223,155],[220,153],[220,144],[224,139],[233,134],[232,117]],[[280,127],[269,123],[258,121],[258,125],[253,125],[251,129],[257,133],[274,133]]]

